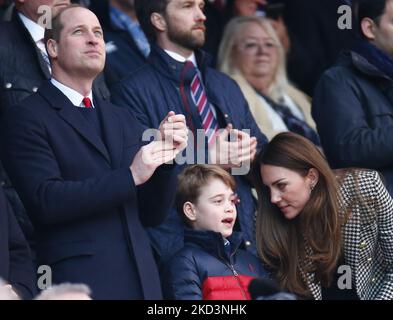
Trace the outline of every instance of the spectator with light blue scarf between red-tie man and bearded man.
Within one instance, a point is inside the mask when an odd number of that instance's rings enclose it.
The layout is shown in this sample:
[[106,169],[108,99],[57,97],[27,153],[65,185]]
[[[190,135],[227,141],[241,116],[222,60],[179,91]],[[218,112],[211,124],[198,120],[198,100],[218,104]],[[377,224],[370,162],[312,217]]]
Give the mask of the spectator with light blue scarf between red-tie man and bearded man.
[[104,30],[107,54],[104,72],[110,88],[146,63],[150,45],[139,26],[134,0],[92,0],[89,8]]

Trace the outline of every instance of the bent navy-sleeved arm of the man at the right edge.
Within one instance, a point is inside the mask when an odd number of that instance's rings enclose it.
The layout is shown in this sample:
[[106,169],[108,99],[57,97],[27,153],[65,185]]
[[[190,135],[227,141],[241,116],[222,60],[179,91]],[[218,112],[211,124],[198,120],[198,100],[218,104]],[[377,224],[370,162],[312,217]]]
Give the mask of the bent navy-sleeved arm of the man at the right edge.
[[369,125],[364,94],[349,72],[337,68],[317,85],[312,115],[334,167],[382,168],[393,162],[393,125]]

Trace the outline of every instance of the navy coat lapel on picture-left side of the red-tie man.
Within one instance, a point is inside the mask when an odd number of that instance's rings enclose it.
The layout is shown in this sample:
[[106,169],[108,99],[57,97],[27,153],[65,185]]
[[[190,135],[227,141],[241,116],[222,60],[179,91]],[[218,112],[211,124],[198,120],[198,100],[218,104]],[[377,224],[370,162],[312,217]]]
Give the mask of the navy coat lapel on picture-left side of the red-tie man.
[[77,110],[77,107],[73,106],[68,98],[49,81],[38,92],[48,101],[51,107],[58,110],[59,116],[86,139],[87,142],[93,145],[110,164],[109,154],[104,143],[93,126]]

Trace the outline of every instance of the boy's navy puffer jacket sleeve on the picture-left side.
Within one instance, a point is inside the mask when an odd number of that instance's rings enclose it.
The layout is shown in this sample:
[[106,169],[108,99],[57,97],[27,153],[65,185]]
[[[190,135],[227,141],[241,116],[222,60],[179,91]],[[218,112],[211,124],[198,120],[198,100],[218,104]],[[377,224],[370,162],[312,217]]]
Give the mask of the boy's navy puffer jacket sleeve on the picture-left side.
[[167,265],[163,275],[163,290],[166,299],[202,300],[202,284],[195,261],[182,253]]

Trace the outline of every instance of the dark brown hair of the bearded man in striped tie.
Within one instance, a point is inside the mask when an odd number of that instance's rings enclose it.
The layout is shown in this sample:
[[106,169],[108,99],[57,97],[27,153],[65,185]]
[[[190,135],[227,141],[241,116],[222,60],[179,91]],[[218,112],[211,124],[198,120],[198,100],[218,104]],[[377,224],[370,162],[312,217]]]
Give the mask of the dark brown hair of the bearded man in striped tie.
[[135,0],[135,11],[143,32],[151,43],[157,38],[156,28],[151,23],[154,12],[165,14],[171,0]]

